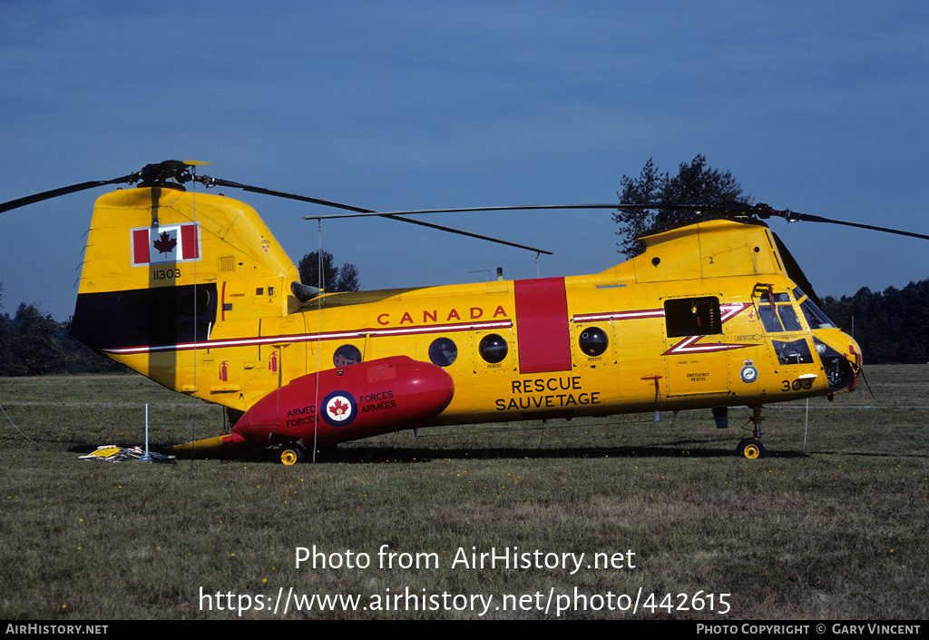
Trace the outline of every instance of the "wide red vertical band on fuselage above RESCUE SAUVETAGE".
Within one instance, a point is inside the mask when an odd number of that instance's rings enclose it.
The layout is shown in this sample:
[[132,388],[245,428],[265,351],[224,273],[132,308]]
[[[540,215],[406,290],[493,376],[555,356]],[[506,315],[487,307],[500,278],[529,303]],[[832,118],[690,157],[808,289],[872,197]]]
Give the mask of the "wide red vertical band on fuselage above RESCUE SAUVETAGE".
[[517,280],[519,373],[569,371],[571,336],[564,278]]

